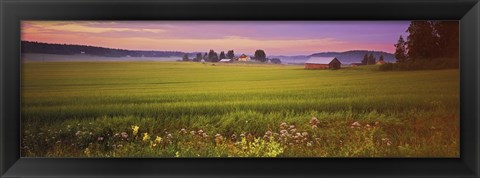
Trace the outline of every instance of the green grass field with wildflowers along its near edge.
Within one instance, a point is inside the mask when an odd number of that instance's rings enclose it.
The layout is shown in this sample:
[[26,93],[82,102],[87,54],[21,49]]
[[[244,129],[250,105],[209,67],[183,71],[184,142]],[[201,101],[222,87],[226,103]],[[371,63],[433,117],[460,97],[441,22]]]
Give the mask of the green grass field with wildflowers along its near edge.
[[459,71],[22,64],[26,157],[458,157]]

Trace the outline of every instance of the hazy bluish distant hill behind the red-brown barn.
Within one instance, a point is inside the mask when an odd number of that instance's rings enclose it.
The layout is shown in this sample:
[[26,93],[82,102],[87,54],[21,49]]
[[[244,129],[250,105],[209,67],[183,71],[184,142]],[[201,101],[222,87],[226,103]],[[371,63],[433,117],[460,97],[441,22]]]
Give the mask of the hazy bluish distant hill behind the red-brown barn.
[[310,57],[337,57],[342,64],[351,64],[351,63],[360,63],[363,59],[365,54],[370,54],[373,52],[373,55],[377,58],[380,55],[383,55],[383,58],[386,62],[395,62],[395,56],[391,53],[383,52],[383,51],[368,51],[368,50],[352,50],[352,51],[345,51],[345,52],[321,52],[321,53],[314,53],[311,55],[297,55],[297,56],[269,56],[275,57],[282,60],[282,63],[304,63]]

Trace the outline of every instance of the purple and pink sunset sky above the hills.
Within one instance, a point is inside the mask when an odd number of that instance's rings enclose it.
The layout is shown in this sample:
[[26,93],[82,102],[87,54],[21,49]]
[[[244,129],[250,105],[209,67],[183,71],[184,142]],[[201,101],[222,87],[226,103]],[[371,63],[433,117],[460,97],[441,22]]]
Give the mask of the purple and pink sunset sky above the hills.
[[393,53],[410,21],[22,21],[22,40],[155,51]]

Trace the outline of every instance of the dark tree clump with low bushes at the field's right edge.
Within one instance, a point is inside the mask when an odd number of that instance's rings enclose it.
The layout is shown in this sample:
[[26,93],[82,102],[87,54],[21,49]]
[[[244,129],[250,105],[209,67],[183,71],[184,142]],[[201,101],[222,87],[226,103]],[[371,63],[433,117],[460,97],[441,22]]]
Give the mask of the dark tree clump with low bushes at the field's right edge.
[[382,70],[458,68],[458,21],[412,21],[406,32],[394,44],[397,63]]

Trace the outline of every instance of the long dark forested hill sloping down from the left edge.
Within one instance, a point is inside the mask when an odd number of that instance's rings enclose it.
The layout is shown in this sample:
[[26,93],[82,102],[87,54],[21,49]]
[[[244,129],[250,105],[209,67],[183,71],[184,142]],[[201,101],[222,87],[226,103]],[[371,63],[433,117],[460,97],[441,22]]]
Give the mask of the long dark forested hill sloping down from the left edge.
[[59,54],[59,55],[75,55],[86,54],[102,57],[181,57],[185,53],[179,51],[140,51],[112,49],[95,46],[70,45],[70,44],[49,44],[22,41],[22,53],[39,53],[39,54]]

